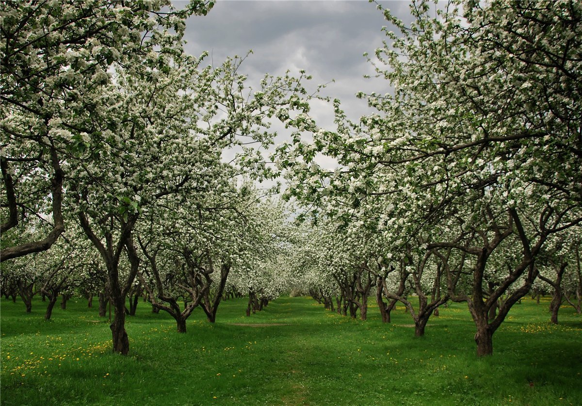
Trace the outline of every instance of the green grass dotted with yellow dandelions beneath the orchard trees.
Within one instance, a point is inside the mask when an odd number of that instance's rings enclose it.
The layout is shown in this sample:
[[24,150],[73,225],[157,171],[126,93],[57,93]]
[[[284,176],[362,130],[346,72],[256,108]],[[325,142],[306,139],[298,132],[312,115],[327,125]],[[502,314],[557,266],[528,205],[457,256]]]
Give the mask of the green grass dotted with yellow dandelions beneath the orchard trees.
[[481,359],[465,304],[415,338],[402,307],[382,325],[377,307],[362,322],[279,298],[247,318],[230,300],[215,325],[196,312],[179,334],[140,302],[127,357],[86,306],[73,298],[45,322],[40,299],[31,314],[1,300],[3,405],[582,405],[582,318],[564,307],[553,326],[548,301],[516,305]]

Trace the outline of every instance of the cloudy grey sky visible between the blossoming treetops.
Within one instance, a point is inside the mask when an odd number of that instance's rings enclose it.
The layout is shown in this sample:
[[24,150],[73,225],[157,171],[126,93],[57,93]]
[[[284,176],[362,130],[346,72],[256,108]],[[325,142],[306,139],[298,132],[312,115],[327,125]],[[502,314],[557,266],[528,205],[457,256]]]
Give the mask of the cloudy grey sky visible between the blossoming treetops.
[[[186,4],[173,3],[178,7]],[[409,1],[380,3],[405,20],[409,15]],[[363,54],[374,55],[374,49],[382,46],[385,35],[381,29],[387,24],[376,5],[367,0],[218,0],[207,16],[187,20],[184,40],[190,54],[210,52],[207,62],[215,66],[227,56],[244,56],[252,49],[241,71],[249,75],[250,83],[258,83],[265,73],[279,75],[288,69],[292,73],[304,69],[313,76],[313,89],[333,79],[325,95],[339,98],[348,116],[357,119],[368,108],[355,97],[356,92],[388,91],[386,81],[363,78],[374,74]],[[311,106],[318,125],[333,130],[331,104],[314,102]]]

